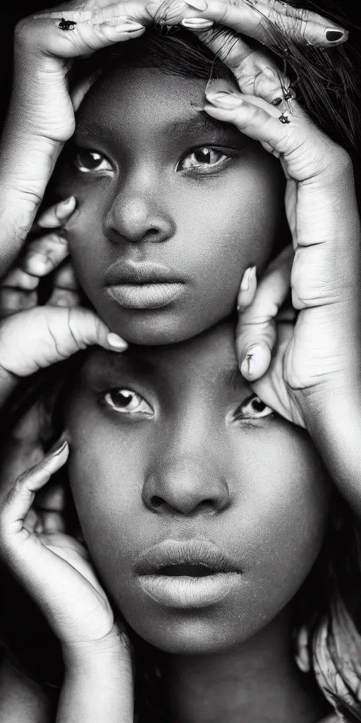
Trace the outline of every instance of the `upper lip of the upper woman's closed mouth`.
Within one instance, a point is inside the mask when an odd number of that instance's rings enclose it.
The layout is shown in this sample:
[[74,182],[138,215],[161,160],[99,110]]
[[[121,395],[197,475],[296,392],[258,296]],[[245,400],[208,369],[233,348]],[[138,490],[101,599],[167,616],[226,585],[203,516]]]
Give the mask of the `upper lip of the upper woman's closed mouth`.
[[105,273],[107,286],[121,283],[183,283],[177,272],[155,262],[116,261]]

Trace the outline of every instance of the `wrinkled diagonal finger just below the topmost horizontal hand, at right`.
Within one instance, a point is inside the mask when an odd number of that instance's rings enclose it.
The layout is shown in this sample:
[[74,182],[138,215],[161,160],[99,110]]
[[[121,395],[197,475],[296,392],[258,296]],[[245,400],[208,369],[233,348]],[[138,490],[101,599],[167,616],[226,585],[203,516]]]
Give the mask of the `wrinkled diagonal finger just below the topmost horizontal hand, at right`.
[[[230,30],[208,30],[196,33],[217,59],[225,64],[235,76],[238,86],[245,95],[259,95],[269,103],[282,103],[284,90],[290,87],[290,80],[279,70],[265,51],[250,48],[243,38]],[[226,86],[226,87],[225,87]],[[211,79],[206,93],[232,90],[230,81]]]

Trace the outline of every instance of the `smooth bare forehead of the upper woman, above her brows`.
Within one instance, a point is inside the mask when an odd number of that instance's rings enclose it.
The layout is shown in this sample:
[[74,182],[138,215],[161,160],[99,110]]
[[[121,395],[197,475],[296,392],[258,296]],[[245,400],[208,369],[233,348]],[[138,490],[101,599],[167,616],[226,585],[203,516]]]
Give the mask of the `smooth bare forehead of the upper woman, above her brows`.
[[[153,68],[123,68],[108,72],[87,93],[77,114],[77,134],[100,138],[104,131],[113,136],[185,130],[219,132],[225,124],[201,113],[206,80],[187,78]],[[198,108],[198,109],[197,109]],[[136,123],[134,123],[136,119]],[[228,134],[238,137],[232,127]]]

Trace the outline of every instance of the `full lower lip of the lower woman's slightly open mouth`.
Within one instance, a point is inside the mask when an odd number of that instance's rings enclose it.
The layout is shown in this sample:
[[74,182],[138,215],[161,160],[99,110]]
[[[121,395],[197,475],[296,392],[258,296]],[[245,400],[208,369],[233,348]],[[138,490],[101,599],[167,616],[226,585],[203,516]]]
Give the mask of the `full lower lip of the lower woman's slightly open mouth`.
[[165,607],[191,609],[209,607],[232,592],[240,581],[240,573],[214,573],[203,578],[142,575],[144,592]]

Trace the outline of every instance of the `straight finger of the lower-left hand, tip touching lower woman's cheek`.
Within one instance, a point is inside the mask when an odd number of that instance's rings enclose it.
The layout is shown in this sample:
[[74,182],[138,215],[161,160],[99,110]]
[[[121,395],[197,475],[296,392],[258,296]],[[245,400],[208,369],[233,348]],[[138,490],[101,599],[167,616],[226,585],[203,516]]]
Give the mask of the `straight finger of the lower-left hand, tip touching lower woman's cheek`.
[[23,523],[35,498],[35,492],[44,487],[51,476],[61,469],[69,455],[68,442],[48,454],[40,464],[17,477],[11,489],[0,502],[0,536],[8,538],[22,531]]

